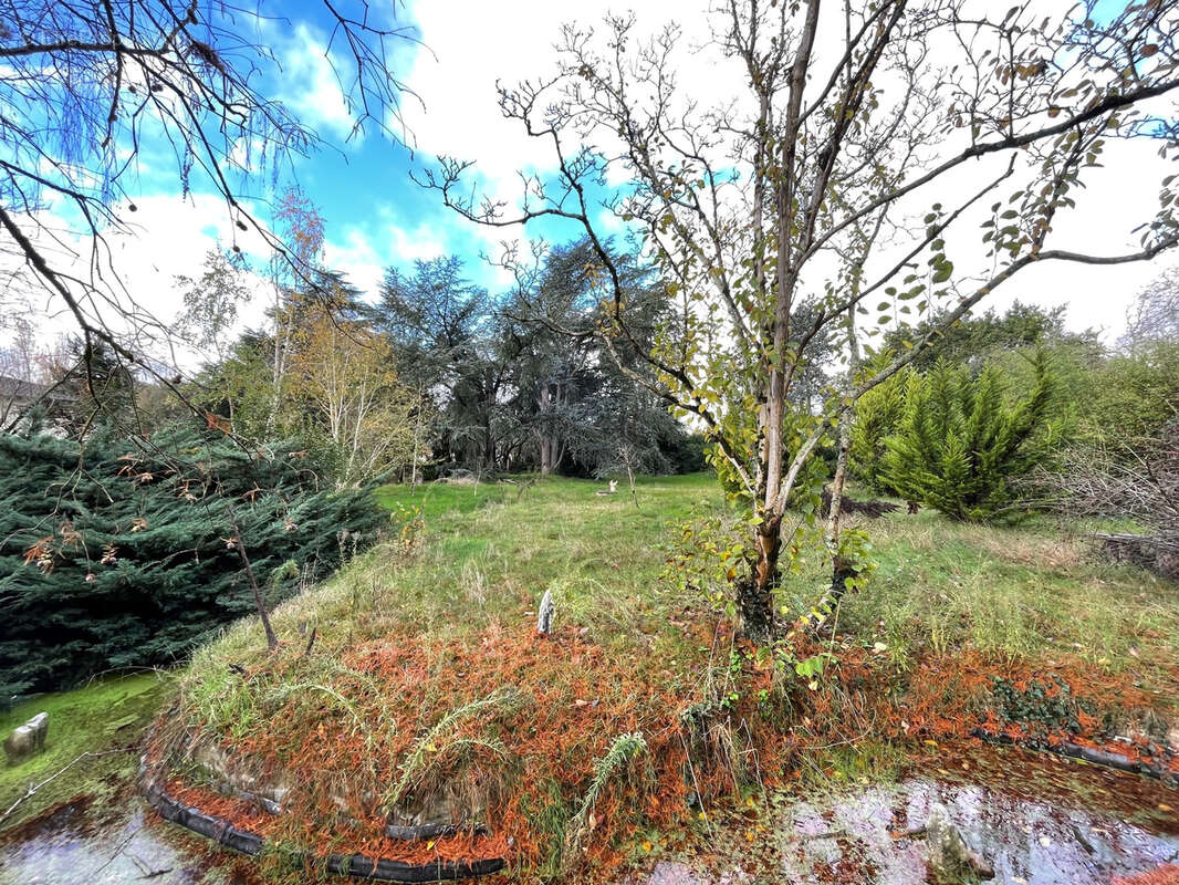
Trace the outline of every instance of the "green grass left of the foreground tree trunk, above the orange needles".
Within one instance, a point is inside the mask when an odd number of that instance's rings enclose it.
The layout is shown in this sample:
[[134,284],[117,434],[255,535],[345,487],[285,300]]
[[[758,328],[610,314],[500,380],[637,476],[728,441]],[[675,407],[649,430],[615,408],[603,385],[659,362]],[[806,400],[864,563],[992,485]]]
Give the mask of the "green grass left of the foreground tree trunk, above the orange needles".
[[[439,640],[474,635],[492,623],[525,625],[546,589],[558,623],[587,627],[602,641],[617,628],[643,631],[666,603],[659,576],[668,524],[702,503],[720,505],[706,474],[639,483],[630,496],[598,496],[602,484],[546,479],[508,484],[387,486],[381,500],[393,527],[417,506],[424,536],[362,555],[334,578],[278,607],[281,638],[297,643],[309,624],[317,644],[343,648],[407,627]],[[251,620],[199,651],[192,674],[215,660],[257,660],[261,628]],[[264,647],[263,642],[263,647]],[[226,710],[228,715],[232,715]]]

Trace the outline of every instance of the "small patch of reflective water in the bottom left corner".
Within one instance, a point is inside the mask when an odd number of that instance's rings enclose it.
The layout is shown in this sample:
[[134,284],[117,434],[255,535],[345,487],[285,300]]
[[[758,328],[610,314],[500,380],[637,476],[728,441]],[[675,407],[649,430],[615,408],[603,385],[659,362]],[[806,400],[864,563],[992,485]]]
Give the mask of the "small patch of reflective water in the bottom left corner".
[[251,885],[211,844],[159,821],[138,799],[94,822],[65,805],[0,838],[0,885]]

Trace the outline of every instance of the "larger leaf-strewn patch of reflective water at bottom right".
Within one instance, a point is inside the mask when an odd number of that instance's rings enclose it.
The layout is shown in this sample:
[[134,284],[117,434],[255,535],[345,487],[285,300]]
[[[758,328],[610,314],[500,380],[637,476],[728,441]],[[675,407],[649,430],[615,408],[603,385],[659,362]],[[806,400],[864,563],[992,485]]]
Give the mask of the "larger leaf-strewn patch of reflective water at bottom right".
[[934,880],[926,840],[907,831],[938,802],[1003,885],[1109,885],[1179,863],[1177,791],[1016,750],[941,752],[930,768],[933,776],[732,812],[690,857],[631,881],[924,885]]

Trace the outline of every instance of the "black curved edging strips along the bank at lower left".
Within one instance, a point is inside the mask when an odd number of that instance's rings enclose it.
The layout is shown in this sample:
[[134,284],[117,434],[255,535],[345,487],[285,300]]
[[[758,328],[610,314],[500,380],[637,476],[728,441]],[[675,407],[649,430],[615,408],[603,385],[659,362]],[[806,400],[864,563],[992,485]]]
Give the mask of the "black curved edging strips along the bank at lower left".
[[[164,820],[178,824],[199,835],[212,839],[218,845],[256,856],[265,847],[265,839],[248,830],[239,830],[224,818],[205,814],[172,798],[158,784],[149,784],[144,798]],[[429,864],[407,864],[402,860],[371,859],[360,854],[329,854],[328,857],[304,856],[311,865],[323,865],[330,873],[355,876],[376,881],[442,881],[488,876],[503,868],[502,858],[488,860],[454,861],[435,860]]]

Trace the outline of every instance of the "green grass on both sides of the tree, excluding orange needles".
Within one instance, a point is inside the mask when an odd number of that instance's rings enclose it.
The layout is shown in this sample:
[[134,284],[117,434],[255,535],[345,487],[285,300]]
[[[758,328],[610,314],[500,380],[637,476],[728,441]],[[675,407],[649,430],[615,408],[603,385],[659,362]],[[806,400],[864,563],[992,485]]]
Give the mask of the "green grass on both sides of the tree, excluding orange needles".
[[[417,527],[279,607],[279,635],[294,642],[317,623],[318,642],[335,648],[407,628],[473,636],[493,623],[528,623],[551,589],[560,622],[620,653],[643,645],[668,612],[700,602],[660,579],[672,527],[726,505],[711,474],[641,479],[638,507],[625,486],[597,496],[602,487],[562,478],[386,486],[378,494],[394,525],[413,507]],[[1048,520],[992,527],[902,510],[850,524],[867,529],[880,566],[844,599],[839,630],[885,642],[902,664],[961,648],[1003,658],[1072,655],[1144,677],[1179,663],[1179,588],[1102,562]],[[782,604],[804,611],[826,568],[815,548],[780,589]],[[263,649],[259,627],[246,621],[198,661],[256,660]]]

